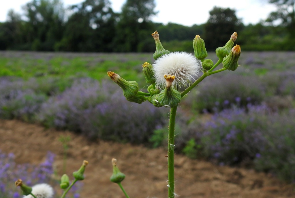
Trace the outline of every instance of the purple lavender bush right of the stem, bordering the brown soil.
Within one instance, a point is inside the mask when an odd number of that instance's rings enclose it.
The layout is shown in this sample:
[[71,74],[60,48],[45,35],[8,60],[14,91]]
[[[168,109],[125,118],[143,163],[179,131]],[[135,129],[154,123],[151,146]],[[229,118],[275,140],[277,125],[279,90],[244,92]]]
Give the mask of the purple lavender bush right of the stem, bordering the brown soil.
[[[186,117],[178,113],[182,119]],[[249,165],[295,181],[295,110],[273,111],[265,104],[232,107],[189,121],[176,135],[176,150],[220,165]]]

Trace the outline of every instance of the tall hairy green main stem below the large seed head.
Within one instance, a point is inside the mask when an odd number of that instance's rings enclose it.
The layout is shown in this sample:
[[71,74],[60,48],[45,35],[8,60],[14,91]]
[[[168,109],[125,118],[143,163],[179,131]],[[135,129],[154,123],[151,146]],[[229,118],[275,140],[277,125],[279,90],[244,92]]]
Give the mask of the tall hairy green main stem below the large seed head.
[[174,198],[174,130],[177,106],[170,110],[168,133],[168,198]]

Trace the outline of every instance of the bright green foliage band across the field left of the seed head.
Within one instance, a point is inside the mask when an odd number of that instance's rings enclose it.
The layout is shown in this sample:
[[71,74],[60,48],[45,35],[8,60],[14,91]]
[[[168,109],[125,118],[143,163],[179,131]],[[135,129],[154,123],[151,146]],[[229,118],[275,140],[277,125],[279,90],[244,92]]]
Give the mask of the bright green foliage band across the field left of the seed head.
[[[141,65],[144,61],[143,58],[135,59],[133,56],[136,54],[118,54],[113,56],[116,58],[100,57],[83,57],[74,56],[70,58],[63,57],[62,54],[54,57],[14,57],[5,58],[0,56],[0,76],[17,76],[28,79],[30,77],[71,77],[71,76],[88,76],[94,79],[108,78],[106,72],[120,70],[120,74],[126,79],[135,79],[136,81],[143,82],[145,77],[137,75],[142,72]],[[152,62],[152,57],[148,54],[139,55]],[[47,57],[47,56],[46,56]],[[131,69],[134,68],[134,69]],[[59,81],[53,82],[54,84],[60,83],[60,88],[63,89],[65,80],[61,78]],[[42,89],[49,88],[52,84],[44,84]]]

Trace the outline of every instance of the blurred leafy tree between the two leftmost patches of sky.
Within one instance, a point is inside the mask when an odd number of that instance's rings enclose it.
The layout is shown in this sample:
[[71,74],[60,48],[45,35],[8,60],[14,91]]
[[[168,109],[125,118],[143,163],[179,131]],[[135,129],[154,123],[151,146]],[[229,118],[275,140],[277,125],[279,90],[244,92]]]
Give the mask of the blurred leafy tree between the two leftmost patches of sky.
[[30,50],[53,51],[63,33],[65,9],[60,0],[32,0],[24,7],[24,34]]

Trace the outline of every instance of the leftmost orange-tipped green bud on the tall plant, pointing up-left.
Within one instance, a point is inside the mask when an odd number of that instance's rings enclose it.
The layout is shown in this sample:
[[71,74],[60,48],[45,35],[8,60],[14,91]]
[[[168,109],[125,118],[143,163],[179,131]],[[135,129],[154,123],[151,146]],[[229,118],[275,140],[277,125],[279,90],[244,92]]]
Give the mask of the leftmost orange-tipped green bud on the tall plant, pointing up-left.
[[138,84],[135,81],[127,81],[123,78],[121,78],[118,74],[115,74],[114,72],[108,72],[109,77],[117,83],[122,89],[123,94],[126,98],[132,98],[135,96],[138,92]]

